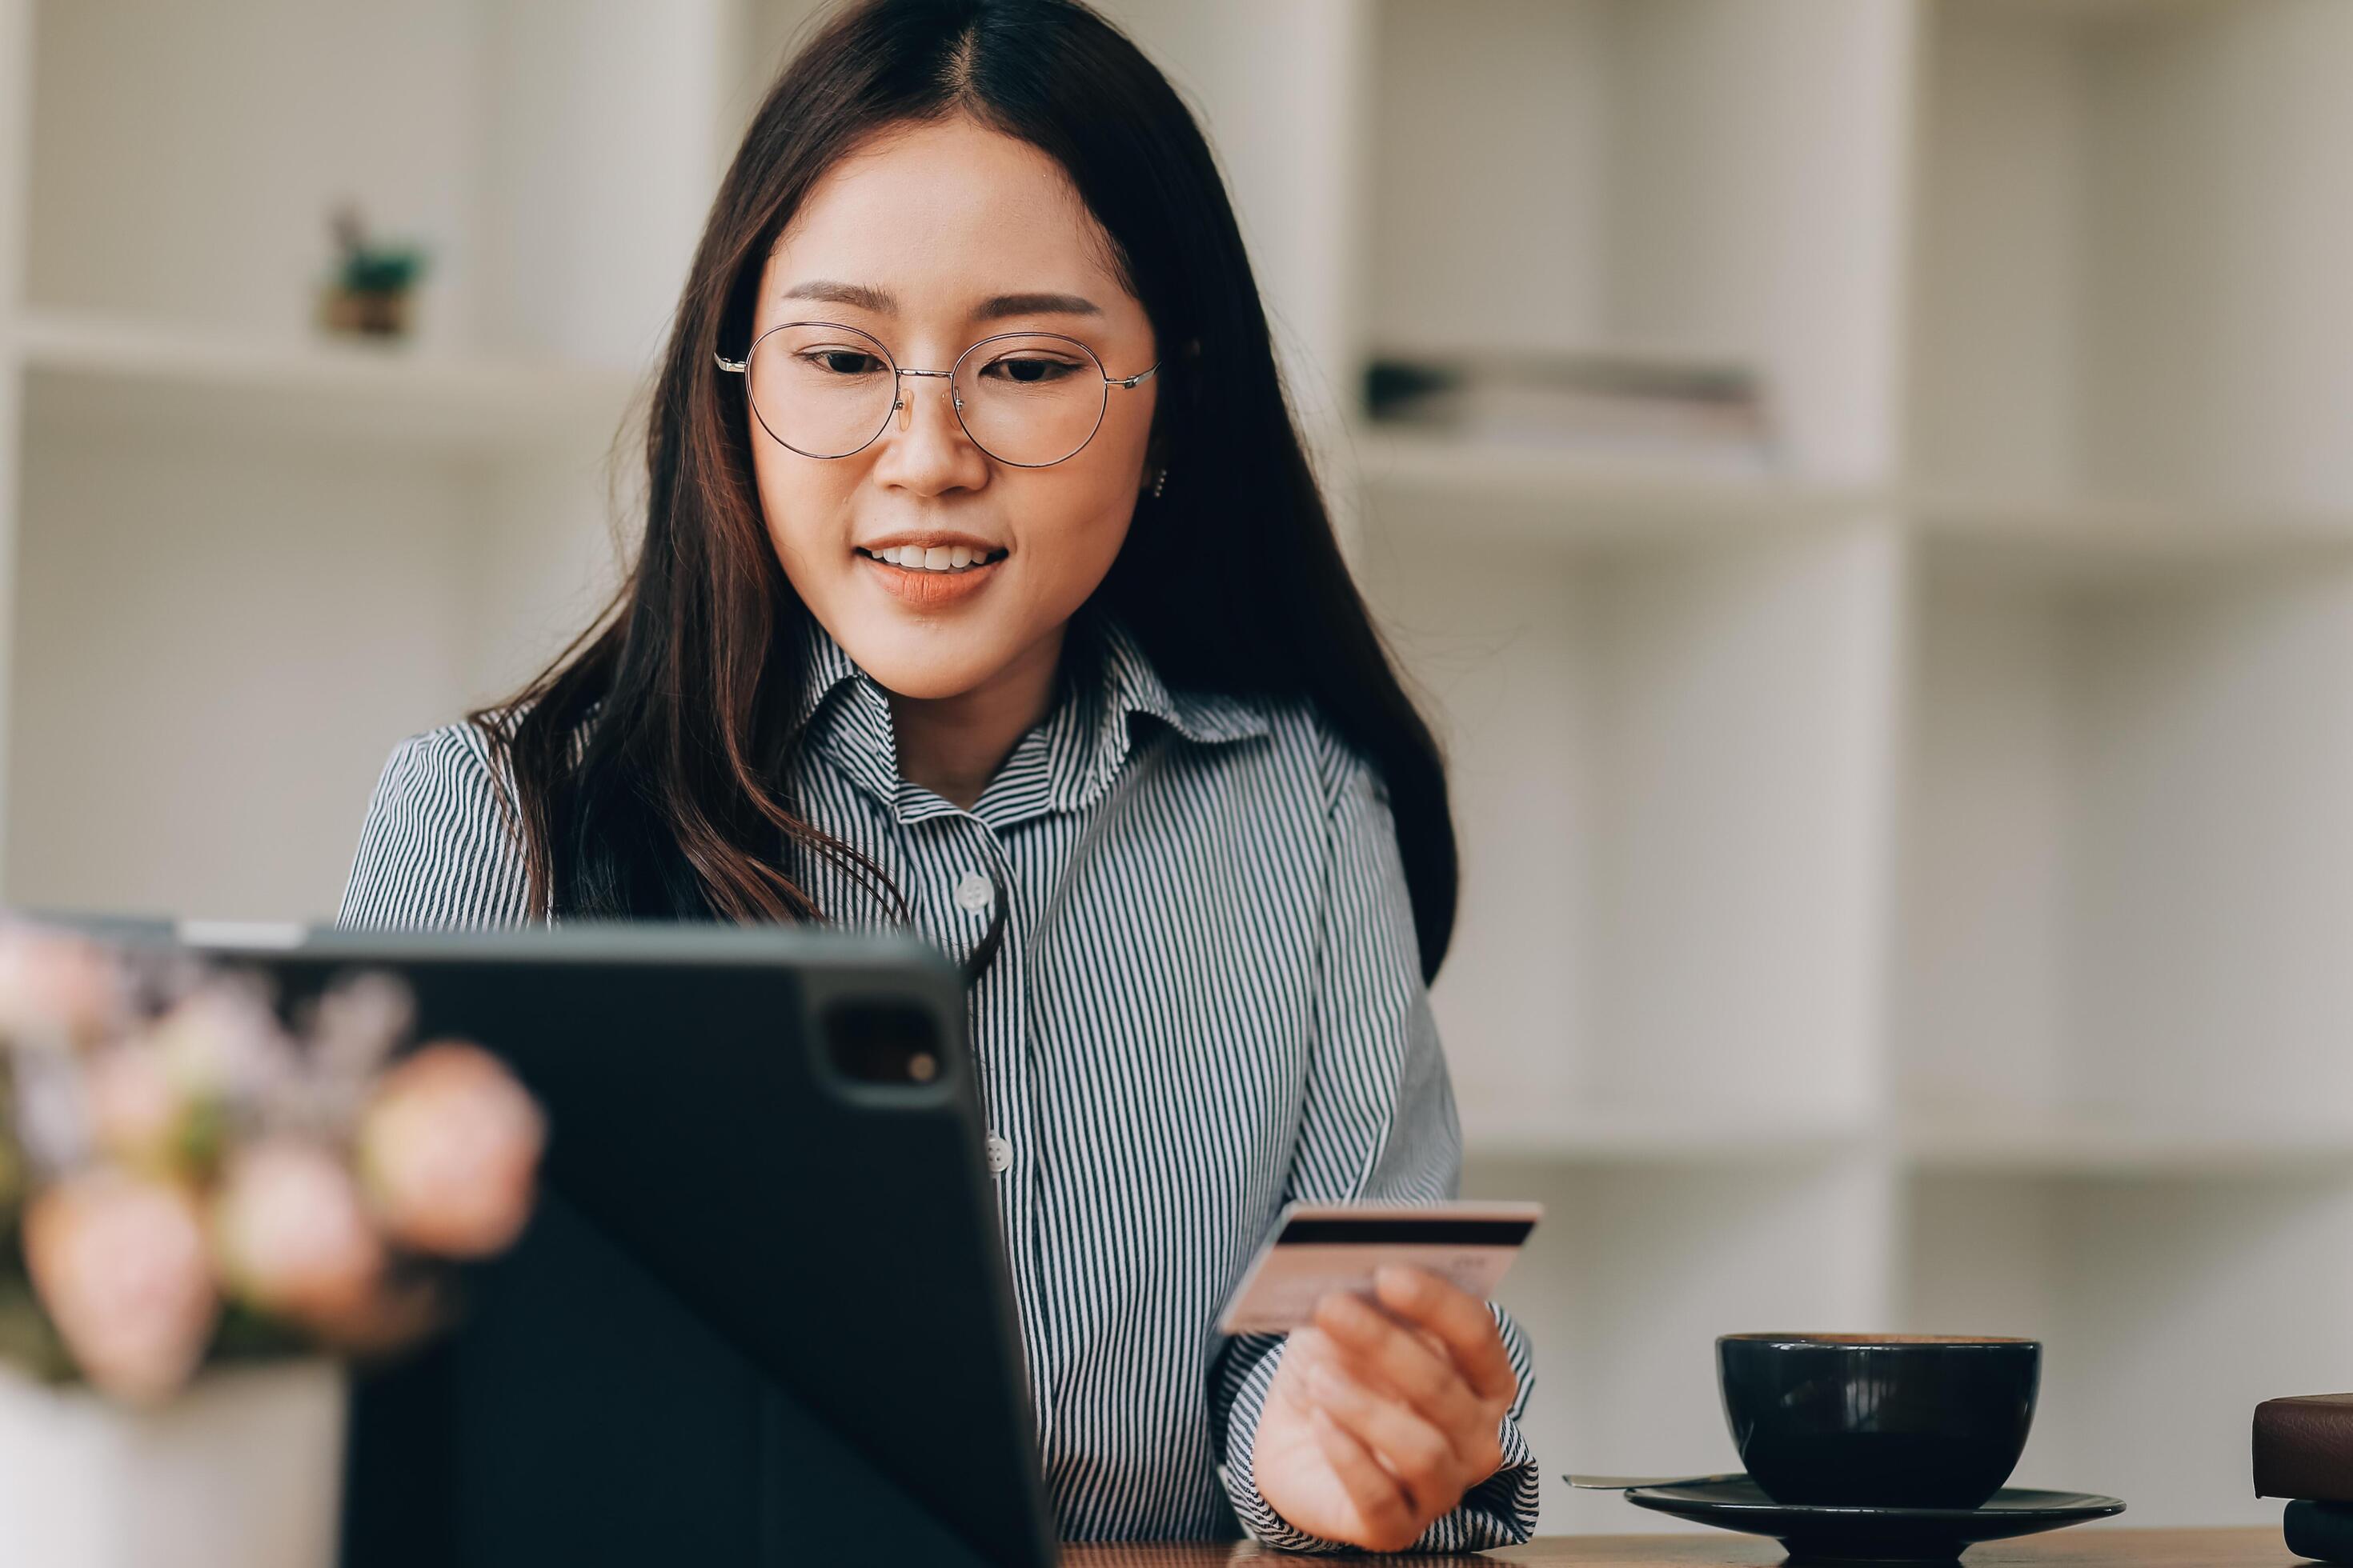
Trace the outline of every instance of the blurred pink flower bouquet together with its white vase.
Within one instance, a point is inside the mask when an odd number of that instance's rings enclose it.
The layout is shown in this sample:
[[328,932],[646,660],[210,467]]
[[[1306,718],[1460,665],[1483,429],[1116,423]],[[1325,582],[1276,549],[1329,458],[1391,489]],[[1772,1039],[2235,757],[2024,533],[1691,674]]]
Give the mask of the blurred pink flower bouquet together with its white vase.
[[544,1117],[398,976],[259,976],[0,914],[0,1561],[334,1561],[346,1363],[452,1314]]

